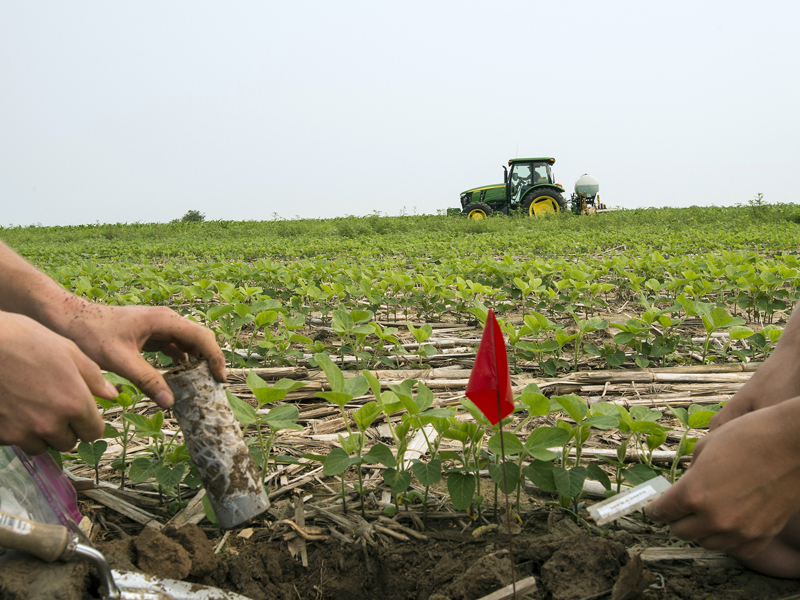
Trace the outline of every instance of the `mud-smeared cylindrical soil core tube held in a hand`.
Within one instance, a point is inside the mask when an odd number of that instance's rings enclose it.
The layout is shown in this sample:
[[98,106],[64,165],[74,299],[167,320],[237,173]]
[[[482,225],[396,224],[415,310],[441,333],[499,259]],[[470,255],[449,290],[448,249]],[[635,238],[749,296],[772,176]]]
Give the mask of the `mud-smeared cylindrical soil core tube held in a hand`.
[[253,457],[208,362],[191,361],[164,378],[175,394],[175,417],[220,527],[233,529],[267,510],[269,498]]

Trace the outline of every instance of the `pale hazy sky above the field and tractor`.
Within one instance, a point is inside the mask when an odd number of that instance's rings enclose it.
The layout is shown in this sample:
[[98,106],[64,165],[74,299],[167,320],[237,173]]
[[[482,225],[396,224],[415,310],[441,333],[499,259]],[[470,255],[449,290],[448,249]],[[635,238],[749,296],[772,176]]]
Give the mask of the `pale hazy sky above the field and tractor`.
[[0,0],[0,225],[800,202],[800,2]]

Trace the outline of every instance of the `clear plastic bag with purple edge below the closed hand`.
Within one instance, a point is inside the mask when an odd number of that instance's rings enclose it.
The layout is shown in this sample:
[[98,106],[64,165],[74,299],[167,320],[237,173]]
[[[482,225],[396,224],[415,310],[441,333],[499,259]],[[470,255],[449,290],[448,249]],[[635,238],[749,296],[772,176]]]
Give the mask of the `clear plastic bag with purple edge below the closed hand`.
[[49,454],[0,446],[0,510],[39,523],[79,523],[78,495]]

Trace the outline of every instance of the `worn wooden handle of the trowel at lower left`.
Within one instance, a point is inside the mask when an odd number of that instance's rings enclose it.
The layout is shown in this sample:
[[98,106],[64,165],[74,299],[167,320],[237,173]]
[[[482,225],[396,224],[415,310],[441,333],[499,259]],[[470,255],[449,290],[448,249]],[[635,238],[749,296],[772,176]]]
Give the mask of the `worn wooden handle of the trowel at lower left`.
[[0,546],[19,550],[45,562],[69,560],[78,536],[63,525],[46,525],[0,510]]

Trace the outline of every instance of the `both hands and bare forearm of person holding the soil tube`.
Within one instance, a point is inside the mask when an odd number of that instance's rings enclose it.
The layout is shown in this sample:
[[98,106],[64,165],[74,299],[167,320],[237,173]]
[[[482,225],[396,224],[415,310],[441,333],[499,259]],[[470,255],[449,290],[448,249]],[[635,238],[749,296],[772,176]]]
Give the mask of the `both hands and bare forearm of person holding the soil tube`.
[[79,298],[0,242],[0,445],[28,454],[66,452],[103,435],[93,398],[117,390],[108,369],[162,408],[174,402],[142,351],[208,359],[218,381],[225,358],[214,334],[166,307],[106,306]]

